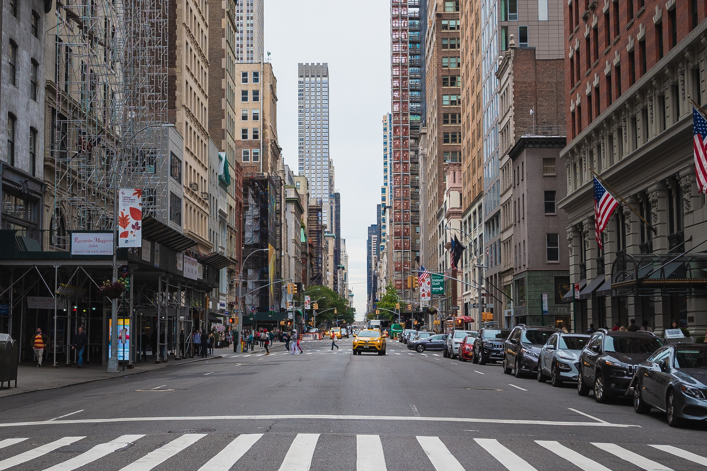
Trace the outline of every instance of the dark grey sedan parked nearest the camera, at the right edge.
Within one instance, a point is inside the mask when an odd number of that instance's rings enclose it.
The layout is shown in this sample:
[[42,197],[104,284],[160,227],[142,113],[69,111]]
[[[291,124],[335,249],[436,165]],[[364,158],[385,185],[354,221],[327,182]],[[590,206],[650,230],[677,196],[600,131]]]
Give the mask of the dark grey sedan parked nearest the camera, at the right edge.
[[633,376],[633,410],[667,414],[670,427],[684,419],[707,420],[707,345],[676,343],[660,348]]

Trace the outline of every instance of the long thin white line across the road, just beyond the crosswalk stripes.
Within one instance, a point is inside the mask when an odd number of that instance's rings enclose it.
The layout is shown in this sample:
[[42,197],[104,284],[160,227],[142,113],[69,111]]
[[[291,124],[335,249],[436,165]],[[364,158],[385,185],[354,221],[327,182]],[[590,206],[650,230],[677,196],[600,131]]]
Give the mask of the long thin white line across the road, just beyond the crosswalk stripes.
[[525,419],[478,419],[474,417],[410,417],[399,415],[315,415],[315,414],[291,414],[291,415],[197,415],[197,416],[166,416],[166,417],[114,417],[110,419],[62,419],[43,420],[35,422],[5,422],[0,423],[0,428],[4,427],[28,427],[32,425],[54,425],[54,424],[109,424],[116,422],[173,422],[173,421],[210,421],[210,420],[287,420],[287,419],[324,419],[324,420],[385,420],[385,421],[421,421],[421,422],[473,422],[484,424],[525,424],[525,425],[569,425],[578,427],[617,427],[621,429],[629,427],[640,427],[632,424],[612,424],[609,422],[571,422],[559,420],[525,420]]

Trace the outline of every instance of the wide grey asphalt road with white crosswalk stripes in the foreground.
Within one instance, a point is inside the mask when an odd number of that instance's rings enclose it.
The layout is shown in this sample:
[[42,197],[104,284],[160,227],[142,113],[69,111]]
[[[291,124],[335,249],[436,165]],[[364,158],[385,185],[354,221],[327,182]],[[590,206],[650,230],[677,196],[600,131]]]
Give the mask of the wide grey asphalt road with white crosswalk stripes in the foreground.
[[707,470],[672,429],[499,365],[303,342],[0,400],[0,470]]

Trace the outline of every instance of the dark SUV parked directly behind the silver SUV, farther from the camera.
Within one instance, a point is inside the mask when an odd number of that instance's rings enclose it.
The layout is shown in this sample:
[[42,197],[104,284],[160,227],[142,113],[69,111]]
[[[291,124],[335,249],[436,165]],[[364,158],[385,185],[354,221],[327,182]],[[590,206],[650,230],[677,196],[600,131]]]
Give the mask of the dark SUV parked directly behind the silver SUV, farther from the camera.
[[560,331],[554,327],[528,327],[525,324],[515,326],[503,343],[503,373],[510,374],[513,371],[516,378],[537,374],[540,349],[550,335]]

